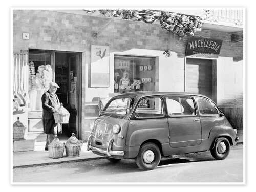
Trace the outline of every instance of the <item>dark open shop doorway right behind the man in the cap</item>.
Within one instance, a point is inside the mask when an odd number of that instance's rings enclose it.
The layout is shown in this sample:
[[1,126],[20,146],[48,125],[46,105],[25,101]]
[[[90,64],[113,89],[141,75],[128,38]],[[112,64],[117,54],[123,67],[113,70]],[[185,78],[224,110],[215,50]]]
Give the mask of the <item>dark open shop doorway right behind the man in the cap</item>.
[[62,132],[79,135],[79,53],[55,52],[54,59],[55,82],[60,86],[56,94],[70,113],[69,124],[62,124]]

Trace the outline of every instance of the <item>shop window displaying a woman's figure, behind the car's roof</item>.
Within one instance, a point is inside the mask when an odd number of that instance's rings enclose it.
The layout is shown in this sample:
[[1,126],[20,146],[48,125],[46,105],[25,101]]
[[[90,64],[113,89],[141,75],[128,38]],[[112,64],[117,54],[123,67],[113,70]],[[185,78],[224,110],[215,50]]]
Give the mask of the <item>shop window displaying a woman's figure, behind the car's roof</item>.
[[155,90],[155,58],[115,56],[114,92]]

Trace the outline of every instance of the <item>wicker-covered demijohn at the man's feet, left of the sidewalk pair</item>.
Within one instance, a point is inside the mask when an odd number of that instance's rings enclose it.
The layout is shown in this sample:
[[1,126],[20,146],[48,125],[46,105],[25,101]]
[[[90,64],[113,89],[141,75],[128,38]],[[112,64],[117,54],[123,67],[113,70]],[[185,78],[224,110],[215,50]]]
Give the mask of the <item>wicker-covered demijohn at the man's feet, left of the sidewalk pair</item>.
[[48,145],[49,157],[54,159],[63,157],[64,148],[64,144],[62,144],[57,135],[55,135],[53,141]]

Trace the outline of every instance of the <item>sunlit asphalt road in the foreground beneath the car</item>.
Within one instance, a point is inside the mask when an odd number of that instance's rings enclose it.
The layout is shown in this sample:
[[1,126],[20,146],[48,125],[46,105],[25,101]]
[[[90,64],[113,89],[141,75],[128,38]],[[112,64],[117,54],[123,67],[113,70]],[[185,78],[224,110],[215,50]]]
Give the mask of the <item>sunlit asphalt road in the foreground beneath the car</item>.
[[13,182],[243,182],[243,145],[231,147],[225,160],[210,152],[163,158],[150,171],[134,160],[106,159],[13,169]]

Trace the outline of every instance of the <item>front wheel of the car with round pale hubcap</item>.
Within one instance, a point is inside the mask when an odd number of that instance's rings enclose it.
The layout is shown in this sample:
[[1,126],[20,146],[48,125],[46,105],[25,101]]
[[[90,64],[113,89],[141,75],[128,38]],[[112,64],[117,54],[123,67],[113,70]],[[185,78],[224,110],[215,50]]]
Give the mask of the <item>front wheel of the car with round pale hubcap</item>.
[[140,147],[136,164],[143,170],[152,170],[156,168],[161,159],[159,147],[155,143],[146,143]]

